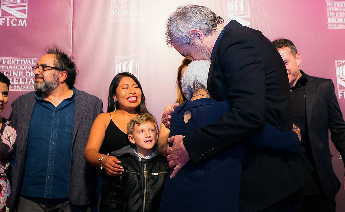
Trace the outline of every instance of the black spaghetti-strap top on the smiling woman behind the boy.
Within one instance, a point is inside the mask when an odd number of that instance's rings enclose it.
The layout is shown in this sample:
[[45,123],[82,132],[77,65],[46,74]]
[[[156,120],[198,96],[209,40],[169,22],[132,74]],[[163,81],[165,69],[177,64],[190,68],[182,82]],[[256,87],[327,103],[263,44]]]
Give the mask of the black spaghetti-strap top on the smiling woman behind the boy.
[[121,149],[122,147],[126,147],[129,144],[130,143],[129,143],[127,134],[122,132],[116,126],[116,124],[112,121],[111,114],[110,114],[110,122],[106,129],[104,140],[99,150],[99,153],[107,154],[112,151],[117,151]]

